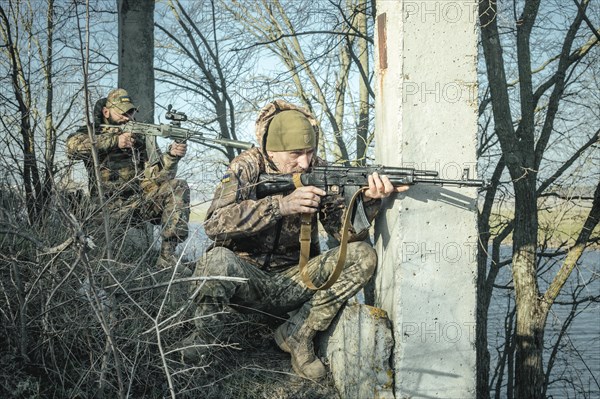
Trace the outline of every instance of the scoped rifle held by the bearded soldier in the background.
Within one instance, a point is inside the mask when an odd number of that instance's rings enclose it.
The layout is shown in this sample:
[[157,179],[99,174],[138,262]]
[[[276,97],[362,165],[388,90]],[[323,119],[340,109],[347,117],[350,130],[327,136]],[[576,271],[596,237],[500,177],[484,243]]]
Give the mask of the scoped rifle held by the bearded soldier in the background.
[[192,141],[194,143],[199,144],[216,144],[222,145],[223,147],[231,147],[231,148],[239,148],[242,150],[248,150],[254,145],[252,143],[248,143],[245,141],[225,139],[225,138],[216,138],[216,137],[207,137],[202,134],[202,132],[186,129],[181,127],[181,122],[187,121],[187,116],[183,112],[175,111],[171,105],[167,108],[167,113],[165,114],[165,118],[170,120],[169,124],[152,124],[152,123],[142,123],[130,121],[125,123],[124,125],[100,125],[104,128],[114,128],[118,129],[121,133],[131,132],[133,135],[140,136],[156,136],[156,137],[164,137],[168,139],[175,140],[179,143],[185,142],[187,140]]

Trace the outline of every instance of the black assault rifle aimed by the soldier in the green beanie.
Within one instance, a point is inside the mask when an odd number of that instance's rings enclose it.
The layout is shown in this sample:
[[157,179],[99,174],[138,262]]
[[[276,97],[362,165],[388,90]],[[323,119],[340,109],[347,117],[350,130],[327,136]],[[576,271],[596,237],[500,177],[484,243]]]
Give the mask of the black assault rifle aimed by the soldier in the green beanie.
[[300,174],[267,174],[258,179],[256,196],[264,198],[269,195],[292,191],[299,181],[302,186],[315,186],[327,194],[352,195],[361,187],[369,186],[369,175],[374,172],[386,175],[394,186],[414,184],[436,184],[456,187],[486,187],[484,180],[469,179],[469,169],[463,170],[460,179],[449,180],[438,177],[435,170],[417,170],[389,166],[316,166],[310,172]]

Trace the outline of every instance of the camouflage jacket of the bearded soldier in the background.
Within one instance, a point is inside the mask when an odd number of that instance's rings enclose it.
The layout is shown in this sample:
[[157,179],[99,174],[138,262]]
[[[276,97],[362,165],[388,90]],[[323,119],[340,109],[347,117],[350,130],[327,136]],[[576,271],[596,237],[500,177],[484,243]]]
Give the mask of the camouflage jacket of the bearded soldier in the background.
[[[160,184],[175,178],[179,158],[168,153],[161,154],[153,136],[137,139],[132,149],[121,149],[118,146],[118,129],[101,128],[97,125],[95,130],[105,195],[129,197],[145,185]],[[90,193],[95,194],[97,190],[92,144],[86,127],[79,128],[67,138],[67,156],[84,162],[89,176]]]

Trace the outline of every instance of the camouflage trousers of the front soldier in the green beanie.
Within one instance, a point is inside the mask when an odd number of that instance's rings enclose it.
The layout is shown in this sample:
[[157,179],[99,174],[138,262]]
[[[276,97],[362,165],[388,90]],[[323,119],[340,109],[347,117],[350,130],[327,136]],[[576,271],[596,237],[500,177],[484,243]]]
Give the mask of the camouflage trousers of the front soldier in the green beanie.
[[[313,291],[302,282],[297,266],[280,272],[265,271],[227,248],[214,248],[198,260],[194,276],[242,277],[247,282],[195,283],[200,287],[198,309],[205,301],[220,302],[242,311],[283,316],[306,304],[310,308],[306,323],[313,330],[324,331],[344,303],[371,278],[377,264],[375,250],[366,243],[353,242],[347,249],[344,270],[338,280],[327,290]],[[315,285],[322,285],[333,272],[338,252],[335,248],[308,262],[306,267]]]

